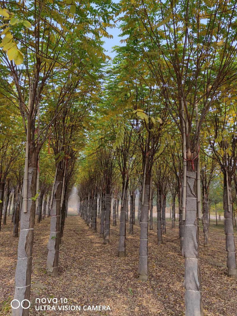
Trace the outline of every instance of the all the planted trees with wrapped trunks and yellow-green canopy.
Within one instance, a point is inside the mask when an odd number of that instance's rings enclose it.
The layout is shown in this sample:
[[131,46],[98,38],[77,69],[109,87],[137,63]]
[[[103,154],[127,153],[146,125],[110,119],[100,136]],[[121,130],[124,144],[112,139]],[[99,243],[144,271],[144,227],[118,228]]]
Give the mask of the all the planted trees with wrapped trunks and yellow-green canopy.
[[[14,298],[30,298],[33,229],[35,214],[38,222],[44,217],[43,200],[51,216],[46,272],[57,276],[66,204],[75,184],[79,213],[94,232],[100,214],[105,244],[111,198],[114,225],[121,200],[119,257],[126,256],[127,197],[130,233],[139,197],[138,274],[146,281],[153,203],[159,246],[170,192],[173,226],[176,196],[179,204],[186,314],[202,315],[198,223],[202,217],[204,246],[209,246],[208,202],[220,172],[228,276],[237,275],[235,1],[54,0],[1,6],[0,217],[3,212],[5,218],[3,201],[7,210],[13,191],[13,235],[19,234]],[[108,63],[102,37],[110,38],[116,17],[126,39]],[[28,309],[12,314],[28,315]]]

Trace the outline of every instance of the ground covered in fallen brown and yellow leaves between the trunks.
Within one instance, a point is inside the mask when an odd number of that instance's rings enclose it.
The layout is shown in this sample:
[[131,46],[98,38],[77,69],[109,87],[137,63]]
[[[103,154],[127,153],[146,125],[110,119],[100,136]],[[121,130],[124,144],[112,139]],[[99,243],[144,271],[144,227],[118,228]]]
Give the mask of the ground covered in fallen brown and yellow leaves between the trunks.
[[[167,234],[161,246],[156,244],[155,223],[154,230],[149,231],[147,283],[137,278],[140,233],[137,223],[134,235],[128,234],[127,225],[128,256],[118,258],[119,225],[111,225],[110,245],[103,245],[99,233],[92,233],[79,216],[69,216],[60,246],[57,278],[45,274],[49,228],[49,218],[35,225],[31,315],[184,315],[184,258],[179,252],[178,228],[172,229],[171,222],[167,221]],[[234,231],[236,235],[236,228]],[[0,233],[0,315],[10,315],[17,243],[8,217]],[[223,224],[218,228],[211,225],[210,248],[203,247],[200,227],[204,315],[237,314],[237,280],[226,275],[226,256]],[[70,305],[109,305],[111,311],[38,312],[34,309],[36,297],[67,298]]]

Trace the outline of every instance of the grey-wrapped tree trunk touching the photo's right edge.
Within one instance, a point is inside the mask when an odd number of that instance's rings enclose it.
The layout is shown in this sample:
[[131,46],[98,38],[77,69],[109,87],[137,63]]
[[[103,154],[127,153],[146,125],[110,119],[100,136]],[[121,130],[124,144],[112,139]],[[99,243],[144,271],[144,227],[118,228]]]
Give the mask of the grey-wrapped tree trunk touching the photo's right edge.
[[234,244],[231,177],[228,177],[228,186],[229,186],[229,204],[230,204],[229,210],[228,210],[228,197],[227,197],[227,180],[224,175],[224,219],[225,219],[228,276],[232,278],[236,278],[237,267],[236,267],[235,244]]

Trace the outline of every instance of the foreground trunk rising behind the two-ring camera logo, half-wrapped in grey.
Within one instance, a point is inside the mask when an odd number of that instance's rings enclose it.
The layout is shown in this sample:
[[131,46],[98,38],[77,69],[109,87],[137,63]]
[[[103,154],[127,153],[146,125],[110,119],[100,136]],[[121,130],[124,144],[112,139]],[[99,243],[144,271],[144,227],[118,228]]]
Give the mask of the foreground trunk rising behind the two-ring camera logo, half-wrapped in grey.
[[[29,126],[29,125],[28,125]],[[27,133],[28,134],[28,133]],[[22,302],[30,299],[31,288],[31,268],[32,268],[32,250],[33,250],[33,227],[35,218],[35,201],[31,199],[36,194],[36,168],[37,168],[37,149],[31,141],[26,155],[27,173],[25,173],[25,187],[27,192],[24,193],[24,208],[21,214],[21,230],[18,241],[17,264],[15,270],[15,294],[14,300]],[[22,189],[22,191],[24,191]],[[18,304],[17,304],[18,305]],[[15,307],[15,304],[13,304]],[[28,302],[24,301],[23,307],[28,307]],[[27,316],[28,309],[23,309],[21,306],[17,309],[12,309],[14,316]]]

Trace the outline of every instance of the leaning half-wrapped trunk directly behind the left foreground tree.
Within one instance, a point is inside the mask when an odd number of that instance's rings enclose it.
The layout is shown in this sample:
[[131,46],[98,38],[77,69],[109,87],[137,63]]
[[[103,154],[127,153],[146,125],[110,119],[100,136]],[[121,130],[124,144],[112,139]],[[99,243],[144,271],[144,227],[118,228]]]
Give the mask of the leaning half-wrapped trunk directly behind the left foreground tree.
[[48,256],[46,273],[50,276],[58,276],[58,255],[60,238],[60,214],[61,197],[63,189],[64,169],[62,161],[58,163],[58,170],[53,192],[53,202],[50,219],[50,235],[48,241]]

